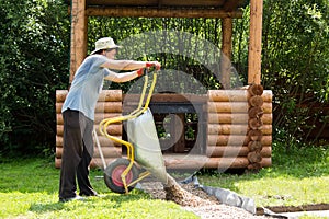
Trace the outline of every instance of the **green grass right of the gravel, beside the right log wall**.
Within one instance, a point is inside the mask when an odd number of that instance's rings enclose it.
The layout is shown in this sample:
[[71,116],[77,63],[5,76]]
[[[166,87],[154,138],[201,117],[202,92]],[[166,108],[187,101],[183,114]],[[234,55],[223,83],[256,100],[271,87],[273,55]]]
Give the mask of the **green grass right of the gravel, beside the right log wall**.
[[329,149],[285,149],[273,143],[272,168],[257,174],[200,175],[200,183],[229,188],[261,206],[329,204]]

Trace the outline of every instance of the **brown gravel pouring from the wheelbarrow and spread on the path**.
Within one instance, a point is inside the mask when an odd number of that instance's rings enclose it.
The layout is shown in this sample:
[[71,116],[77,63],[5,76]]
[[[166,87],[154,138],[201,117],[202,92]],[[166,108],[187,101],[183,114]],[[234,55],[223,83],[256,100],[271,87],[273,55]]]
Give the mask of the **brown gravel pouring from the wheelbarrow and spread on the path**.
[[269,218],[254,216],[242,208],[223,205],[214,196],[209,196],[193,184],[179,184],[168,175],[169,182],[166,187],[160,182],[148,181],[140,183],[141,189],[151,197],[162,200],[172,200],[183,209],[194,212],[202,219],[251,219]]

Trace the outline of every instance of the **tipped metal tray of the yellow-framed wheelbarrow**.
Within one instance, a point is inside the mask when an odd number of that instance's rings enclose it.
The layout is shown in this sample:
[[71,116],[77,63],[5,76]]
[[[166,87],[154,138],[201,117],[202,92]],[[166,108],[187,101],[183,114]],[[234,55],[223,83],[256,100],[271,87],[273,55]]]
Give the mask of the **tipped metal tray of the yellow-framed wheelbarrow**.
[[154,116],[149,108],[140,116],[127,120],[127,135],[135,148],[135,160],[163,184],[168,183],[164,161]]

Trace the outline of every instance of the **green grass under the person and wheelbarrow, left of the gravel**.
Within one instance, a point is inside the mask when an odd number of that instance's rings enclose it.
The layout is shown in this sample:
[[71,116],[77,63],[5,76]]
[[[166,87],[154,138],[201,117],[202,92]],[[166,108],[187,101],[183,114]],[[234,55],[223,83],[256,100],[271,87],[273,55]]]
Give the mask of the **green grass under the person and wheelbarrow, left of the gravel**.
[[59,170],[53,161],[27,159],[0,164],[0,218],[197,218],[171,201],[155,200],[134,189],[118,195],[107,189],[101,171],[91,172],[94,188],[104,197],[58,203]]

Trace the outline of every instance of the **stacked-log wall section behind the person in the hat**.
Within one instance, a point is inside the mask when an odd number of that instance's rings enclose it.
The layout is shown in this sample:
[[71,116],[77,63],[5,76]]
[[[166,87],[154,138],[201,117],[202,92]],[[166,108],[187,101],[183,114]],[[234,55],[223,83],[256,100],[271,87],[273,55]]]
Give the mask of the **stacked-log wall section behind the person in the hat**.
[[[56,122],[57,122],[57,134],[56,134],[56,155],[55,166],[60,168],[61,164],[61,152],[63,152],[63,116],[61,106],[66,99],[67,90],[56,91]],[[121,90],[103,90],[95,107],[94,128],[98,132],[98,138],[102,147],[106,163],[122,157],[121,145],[112,142],[106,137],[103,137],[99,132],[99,124],[104,118],[111,118],[122,115],[122,91]],[[107,131],[110,135],[122,138],[122,124],[113,124],[109,126]],[[94,143],[97,141],[94,140]],[[91,161],[91,166],[102,166],[99,149],[94,145],[94,154]]]

